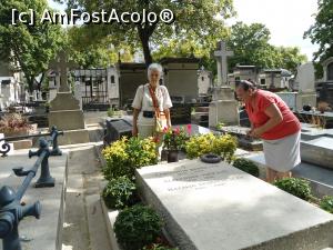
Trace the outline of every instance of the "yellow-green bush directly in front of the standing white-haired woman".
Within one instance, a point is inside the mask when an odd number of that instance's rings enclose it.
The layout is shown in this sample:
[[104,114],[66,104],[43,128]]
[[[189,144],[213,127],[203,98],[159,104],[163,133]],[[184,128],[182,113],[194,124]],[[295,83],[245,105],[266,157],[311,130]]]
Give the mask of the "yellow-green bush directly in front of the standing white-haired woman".
[[113,142],[102,151],[107,161],[107,166],[102,170],[105,179],[111,180],[122,176],[133,179],[135,168],[157,164],[155,147],[152,138],[132,137],[127,139],[123,137]]

